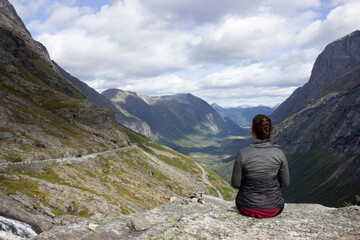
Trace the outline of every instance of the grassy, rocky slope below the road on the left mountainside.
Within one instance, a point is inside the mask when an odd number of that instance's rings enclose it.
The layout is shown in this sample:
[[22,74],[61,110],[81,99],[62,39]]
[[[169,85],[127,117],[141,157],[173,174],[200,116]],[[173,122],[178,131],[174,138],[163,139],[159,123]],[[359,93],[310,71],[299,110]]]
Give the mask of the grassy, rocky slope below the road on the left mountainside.
[[[79,217],[94,217],[99,212],[114,217],[150,209],[166,203],[172,192],[217,196],[202,181],[202,172],[192,159],[126,131],[138,147],[79,163],[7,168],[0,172],[0,189],[18,197],[25,194],[39,209],[50,209],[56,216]],[[212,171],[207,175],[226,199],[234,198],[235,191],[227,183]]]

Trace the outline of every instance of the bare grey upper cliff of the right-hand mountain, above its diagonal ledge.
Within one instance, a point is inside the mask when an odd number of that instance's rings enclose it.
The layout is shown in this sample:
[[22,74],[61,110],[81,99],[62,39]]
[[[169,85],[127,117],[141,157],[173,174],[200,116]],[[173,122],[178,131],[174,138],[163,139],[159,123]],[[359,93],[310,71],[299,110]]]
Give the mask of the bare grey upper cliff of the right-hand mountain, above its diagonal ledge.
[[[272,114],[274,123],[312,105],[334,91],[349,88],[353,82],[338,79],[360,65],[360,31],[352,32],[328,44],[317,57],[309,81],[299,87]],[[350,78],[348,78],[350,79]]]

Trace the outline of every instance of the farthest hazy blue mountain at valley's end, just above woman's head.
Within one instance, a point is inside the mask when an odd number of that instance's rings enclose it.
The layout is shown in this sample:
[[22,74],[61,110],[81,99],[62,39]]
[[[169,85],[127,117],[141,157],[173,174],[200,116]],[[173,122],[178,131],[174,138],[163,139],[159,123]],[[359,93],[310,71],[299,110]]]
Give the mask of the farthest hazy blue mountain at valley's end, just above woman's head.
[[211,106],[220,114],[229,117],[235,123],[241,127],[251,127],[252,119],[257,114],[270,115],[274,109],[266,106],[257,106],[257,107],[229,107],[223,108],[217,105],[216,103],[211,104]]

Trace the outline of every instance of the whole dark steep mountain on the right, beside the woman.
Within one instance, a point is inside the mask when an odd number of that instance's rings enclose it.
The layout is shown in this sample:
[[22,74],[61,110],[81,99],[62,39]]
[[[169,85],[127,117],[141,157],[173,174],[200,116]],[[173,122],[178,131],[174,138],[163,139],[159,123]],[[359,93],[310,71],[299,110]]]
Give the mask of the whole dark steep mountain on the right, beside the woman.
[[327,45],[271,115],[289,158],[291,202],[343,206],[360,192],[360,31]]

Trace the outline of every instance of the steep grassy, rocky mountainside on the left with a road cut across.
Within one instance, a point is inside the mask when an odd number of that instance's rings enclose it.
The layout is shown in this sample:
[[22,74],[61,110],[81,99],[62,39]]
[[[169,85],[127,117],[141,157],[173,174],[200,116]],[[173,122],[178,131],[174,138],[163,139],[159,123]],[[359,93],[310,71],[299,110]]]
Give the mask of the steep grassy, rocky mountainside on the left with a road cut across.
[[93,92],[64,75],[0,0],[0,216],[40,233],[144,211],[170,196],[234,197],[212,171],[120,124],[98,105],[106,101],[92,103]]

